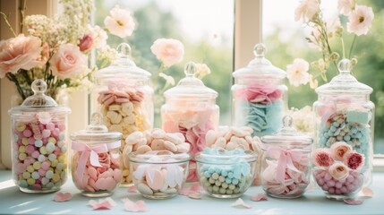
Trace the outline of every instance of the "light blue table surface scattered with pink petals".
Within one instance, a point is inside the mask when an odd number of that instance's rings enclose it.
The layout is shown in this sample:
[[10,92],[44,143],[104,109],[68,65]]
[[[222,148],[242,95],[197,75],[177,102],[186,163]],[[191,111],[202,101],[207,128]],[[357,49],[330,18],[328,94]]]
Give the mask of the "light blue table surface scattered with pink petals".
[[[183,195],[168,200],[148,200],[139,193],[128,193],[127,188],[119,187],[111,196],[117,205],[111,210],[93,211],[88,202],[91,198],[82,196],[73,185],[72,179],[62,187],[62,192],[70,192],[70,202],[54,202],[55,193],[21,193],[13,185],[11,171],[0,170],[0,213],[2,214],[129,214],[124,211],[121,201],[144,200],[147,211],[140,214],[384,214],[384,173],[374,173],[371,189],[372,198],[364,199],[361,205],[347,205],[327,199],[322,191],[312,190],[298,199],[276,199],[252,202],[251,196],[263,193],[260,186],[251,187],[242,199],[252,205],[252,209],[234,208],[230,205],[236,199],[215,199],[203,194],[201,200],[193,200]],[[98,199],[95,199],[98,200]]]

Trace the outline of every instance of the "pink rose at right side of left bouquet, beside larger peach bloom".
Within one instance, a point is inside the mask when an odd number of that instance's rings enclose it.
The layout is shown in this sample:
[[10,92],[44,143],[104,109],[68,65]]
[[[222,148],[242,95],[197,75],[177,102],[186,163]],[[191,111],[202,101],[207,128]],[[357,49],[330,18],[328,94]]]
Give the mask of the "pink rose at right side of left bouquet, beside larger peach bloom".
[[58,79],[73,79],[87,69],[87,56],[73,44],[62,44],[52,56],[52,73]]

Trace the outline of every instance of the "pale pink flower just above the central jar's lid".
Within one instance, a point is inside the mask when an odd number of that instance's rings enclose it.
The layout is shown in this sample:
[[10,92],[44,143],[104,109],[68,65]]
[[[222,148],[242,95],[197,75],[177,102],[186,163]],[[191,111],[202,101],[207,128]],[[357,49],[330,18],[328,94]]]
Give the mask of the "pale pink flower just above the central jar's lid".
[[166,67],[183,60],[184,46],[177,39],[156,39],[150,50]]

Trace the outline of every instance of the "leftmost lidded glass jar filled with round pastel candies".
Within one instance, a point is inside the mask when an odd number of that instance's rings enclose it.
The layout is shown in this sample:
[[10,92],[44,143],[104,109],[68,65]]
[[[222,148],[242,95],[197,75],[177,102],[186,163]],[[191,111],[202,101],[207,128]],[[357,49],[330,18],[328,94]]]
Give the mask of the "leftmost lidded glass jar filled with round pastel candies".
[[12,119],[13,182],[24,193],[55,192],[67,179],[69,107],[45,95],[47,83],[32,82],[33,96],[9,110]]

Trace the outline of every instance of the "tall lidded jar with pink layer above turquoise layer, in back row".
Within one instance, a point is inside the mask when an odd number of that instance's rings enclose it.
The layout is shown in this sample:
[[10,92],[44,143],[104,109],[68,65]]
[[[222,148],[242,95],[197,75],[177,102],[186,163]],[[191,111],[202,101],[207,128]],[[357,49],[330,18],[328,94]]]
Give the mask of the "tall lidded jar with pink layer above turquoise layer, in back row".
[[287,105],[286,72],[272,65],[265,52],[263,44],[256,44],[255,58],[233,73],[232,125],[252,127],[253,136],[276,133]]

